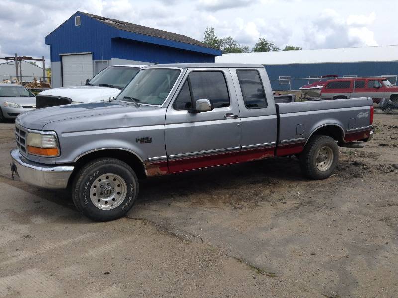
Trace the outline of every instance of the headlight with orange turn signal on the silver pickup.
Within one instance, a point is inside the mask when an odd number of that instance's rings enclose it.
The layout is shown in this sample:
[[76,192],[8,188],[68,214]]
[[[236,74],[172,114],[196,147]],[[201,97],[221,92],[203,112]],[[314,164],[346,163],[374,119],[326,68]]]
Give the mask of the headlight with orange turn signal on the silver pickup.
[[28,153],[32,155],[57,157],[60,153],[55,132],[28,132],[26,144]]

